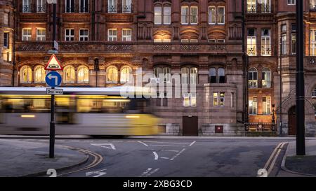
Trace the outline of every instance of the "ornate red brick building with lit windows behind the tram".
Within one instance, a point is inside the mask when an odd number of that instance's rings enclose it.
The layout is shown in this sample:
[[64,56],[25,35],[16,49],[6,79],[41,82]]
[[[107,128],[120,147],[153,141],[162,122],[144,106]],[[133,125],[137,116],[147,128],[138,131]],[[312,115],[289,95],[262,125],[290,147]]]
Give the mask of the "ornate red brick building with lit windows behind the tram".
[[[12,19],[1,22],[0,32],[8,31],[12,45],[1,47],[1,85],[45,86],[52,6],[45,0],[6,2],[0,14]],[[63,86],[122,85],[138,69],[179,73],[197,85],[197,93],[181,99],[160,95],[152,99],[154,112],[164,118],[166,134],[201,136],[244,135],[248,122],[249,131],[279,131],[282,87],[282,132],[295,133],[295,0],[244,1],[248,62],[242,52],[242,0],[57,2]],[[306,132],[315,136],[315,2],[306,1],[305,11]]]

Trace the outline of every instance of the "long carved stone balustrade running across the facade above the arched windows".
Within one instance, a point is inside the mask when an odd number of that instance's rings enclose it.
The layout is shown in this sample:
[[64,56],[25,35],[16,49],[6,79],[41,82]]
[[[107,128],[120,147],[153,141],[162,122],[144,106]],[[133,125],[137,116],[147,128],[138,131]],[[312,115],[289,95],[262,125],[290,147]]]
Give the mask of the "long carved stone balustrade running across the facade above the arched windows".
[[[187,52],[211,54],[238,54],[242,52],[235,43],[148,43],[148,42],[97,42],[59,41],[59,52]],[[50,41],[20,41],[18,52],[47,52]]]

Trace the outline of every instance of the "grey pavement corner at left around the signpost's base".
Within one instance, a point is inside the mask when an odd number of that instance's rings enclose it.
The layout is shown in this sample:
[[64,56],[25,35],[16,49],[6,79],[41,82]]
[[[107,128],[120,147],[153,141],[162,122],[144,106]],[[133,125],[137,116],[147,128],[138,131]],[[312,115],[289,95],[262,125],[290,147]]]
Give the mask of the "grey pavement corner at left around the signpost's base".
[[55,146],[55,158],[48,157],[47,143],[0,139],[0,177],[46,174],[48,169],[65,169],[82,164],[88,156]]

